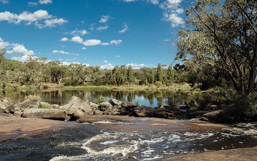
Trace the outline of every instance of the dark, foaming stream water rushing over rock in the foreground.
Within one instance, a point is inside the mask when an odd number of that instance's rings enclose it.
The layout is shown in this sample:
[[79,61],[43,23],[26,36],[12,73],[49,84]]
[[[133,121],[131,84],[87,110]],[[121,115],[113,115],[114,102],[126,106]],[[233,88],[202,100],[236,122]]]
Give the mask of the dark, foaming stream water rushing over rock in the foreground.
[[[73,123],[75,127],[0,142],[0,160],[106,161],[165,157],[257,145],[256,135],[233,128],[198,127],[188,121]],[[156,125],[156,126],[153,126]]]

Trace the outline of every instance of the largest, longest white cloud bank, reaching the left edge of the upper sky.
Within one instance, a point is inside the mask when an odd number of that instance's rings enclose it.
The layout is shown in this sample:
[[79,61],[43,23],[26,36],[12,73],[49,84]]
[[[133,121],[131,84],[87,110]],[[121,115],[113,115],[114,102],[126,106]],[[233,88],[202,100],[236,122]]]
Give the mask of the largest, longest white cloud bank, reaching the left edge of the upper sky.
[[19,15],[4,11],[0,12],[0,22],[1,21],[7,21],[8,23],[14,24],[24,22],[25,25],[31,25],[34,23],[34,25],[40,29],[68,23],[68,21],[63,18],[55,18],[55,16],[49,15],[46,10],[37,10],[33,13],[23,11]]

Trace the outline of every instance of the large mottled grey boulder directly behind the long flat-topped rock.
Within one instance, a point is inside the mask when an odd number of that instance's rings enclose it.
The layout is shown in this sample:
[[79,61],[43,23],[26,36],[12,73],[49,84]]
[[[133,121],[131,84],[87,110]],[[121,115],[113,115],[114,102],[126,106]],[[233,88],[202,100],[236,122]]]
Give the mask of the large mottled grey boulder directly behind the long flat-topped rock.
[[21,111],[23,112],[27,108],[38,108],[40,105],[40,100],[22,100],[18,101],[13,105],[10,105],[8,109],[10,110],[10,113],[14,113],[15,111]]

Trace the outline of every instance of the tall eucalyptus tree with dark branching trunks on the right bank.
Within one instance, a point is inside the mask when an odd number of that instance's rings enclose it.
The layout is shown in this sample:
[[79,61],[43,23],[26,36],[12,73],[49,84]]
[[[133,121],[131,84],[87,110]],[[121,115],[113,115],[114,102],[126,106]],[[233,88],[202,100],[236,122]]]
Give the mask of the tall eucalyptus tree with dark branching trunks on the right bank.
[[[181,29],[177,56],[225,71],[240,93],[257,85],[257,1],[197,0],[185,8],[187,29]],[[177,6],[178,7],[178,6]],[[170,42],[173,43],[173,42]]]

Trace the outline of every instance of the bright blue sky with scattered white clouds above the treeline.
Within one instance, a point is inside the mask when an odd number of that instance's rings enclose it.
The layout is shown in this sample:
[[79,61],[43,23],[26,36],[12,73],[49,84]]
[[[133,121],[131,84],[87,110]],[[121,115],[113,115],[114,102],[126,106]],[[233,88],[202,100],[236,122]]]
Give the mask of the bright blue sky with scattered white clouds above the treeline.
[[168,65],[175,56],[168,56],[170,45],[158,47],[178,31],[172,22],[183,18],[183,10],[165,11],[179,3],[0,0],[0,47],[6,48],[7,59],[20,61],[37,56],[108,69],[131,63],[133,68]]

